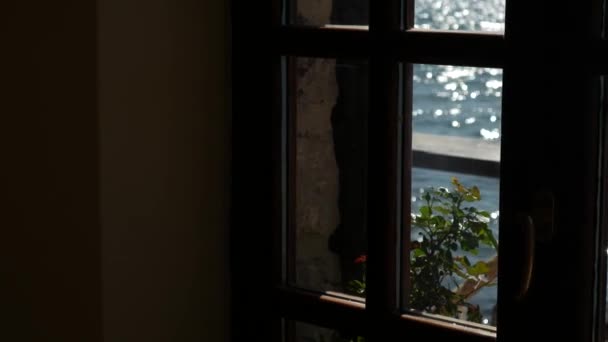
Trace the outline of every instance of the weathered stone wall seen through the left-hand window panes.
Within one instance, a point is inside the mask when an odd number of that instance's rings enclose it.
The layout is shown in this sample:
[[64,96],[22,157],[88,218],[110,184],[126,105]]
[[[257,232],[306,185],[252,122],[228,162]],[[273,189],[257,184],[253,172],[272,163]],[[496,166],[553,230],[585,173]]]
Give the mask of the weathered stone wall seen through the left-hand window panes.
[[[367,0],[293,0],[297,24],[367,23]],[[295,281],[343,292],[360,276],[365,250],[367,68],[333,59],[295,63]],[[358,267],[358,268],[357,268]],[[335,332],[299,325],[296,341],[333,341]]]

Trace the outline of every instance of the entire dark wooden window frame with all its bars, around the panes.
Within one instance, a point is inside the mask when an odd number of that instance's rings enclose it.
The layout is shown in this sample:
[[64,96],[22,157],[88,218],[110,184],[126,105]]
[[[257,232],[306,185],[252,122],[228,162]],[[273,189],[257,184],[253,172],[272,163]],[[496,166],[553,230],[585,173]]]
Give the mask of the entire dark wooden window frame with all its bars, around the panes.
[[[300,320],[369,341],[602,341],[608,167],[603,1],[563,6],[507,0],[504,35],[411,29],[413,0],[403,4],[370,1],[369,30],[359,30],[284,25],[288,11],[279,0],[232,2],[233,340],[278,341],[284,320]],[[374,201],[367,202],[367,226],[374,229],[366,233],[365,305],[286,285],[287,56],[369,65],[367,196]],[[396,246],[407,248],[400,240],[409,236],[410,210],[397,198],[409,191],[413,158],[397,152],[411,151],[411,111],[403,110],[411,107],[411,63],[504,70],[497,337],[401,310],[408,273]],[[529,295],[517,301],[523,264],[518,217],[534,215],[539,192],[555,199],[552,234],[536,243]],[[563,279],[564,272],[573,281]]]

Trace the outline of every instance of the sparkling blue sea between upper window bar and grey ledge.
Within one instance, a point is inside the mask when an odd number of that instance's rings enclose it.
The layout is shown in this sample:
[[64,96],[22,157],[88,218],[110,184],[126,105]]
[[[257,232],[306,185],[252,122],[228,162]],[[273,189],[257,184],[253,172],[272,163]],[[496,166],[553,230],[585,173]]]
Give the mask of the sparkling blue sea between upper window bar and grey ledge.
[[413,85],[414,132],[499,145],[501,69],[417,64]]

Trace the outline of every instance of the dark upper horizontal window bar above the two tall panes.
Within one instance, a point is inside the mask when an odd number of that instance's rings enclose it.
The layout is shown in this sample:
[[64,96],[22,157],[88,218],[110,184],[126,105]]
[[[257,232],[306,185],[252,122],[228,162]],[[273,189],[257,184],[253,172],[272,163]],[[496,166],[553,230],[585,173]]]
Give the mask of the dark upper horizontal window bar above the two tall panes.
[[505,40],[488,33],[410,30],[376,35],[362,26],[280,27],[275,53],[311,57],[368,57],[381,53],[408,63],[502,67]]

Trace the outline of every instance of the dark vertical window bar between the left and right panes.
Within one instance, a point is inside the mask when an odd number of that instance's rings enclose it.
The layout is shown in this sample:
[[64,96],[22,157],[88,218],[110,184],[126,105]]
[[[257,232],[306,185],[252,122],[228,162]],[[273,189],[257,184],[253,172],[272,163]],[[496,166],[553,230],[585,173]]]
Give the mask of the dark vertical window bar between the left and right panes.
[[[370,111],[368,118],[368,259],[367,300],[370,326],[379,327],[398,310],[397,196],[399,175],[398,88],[396,59],[386,46],[401,27],[401,0],[370,1]],[[390,338],[389,329],[374,329],[371,341]]]

